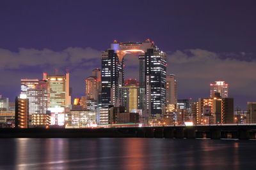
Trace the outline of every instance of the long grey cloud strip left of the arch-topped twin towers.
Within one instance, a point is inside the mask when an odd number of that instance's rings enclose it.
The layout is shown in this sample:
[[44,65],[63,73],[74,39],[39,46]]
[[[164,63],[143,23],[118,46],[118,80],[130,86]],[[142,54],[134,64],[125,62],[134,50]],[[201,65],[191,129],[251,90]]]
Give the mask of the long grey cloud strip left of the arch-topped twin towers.
[[11,52],[0,48],[0,69],[20,69],[22,67],[75,67],[91,66],[93,60],[99,59],[100,52],[92,48],[69,47],[61,52],[19,48],[19,52]]

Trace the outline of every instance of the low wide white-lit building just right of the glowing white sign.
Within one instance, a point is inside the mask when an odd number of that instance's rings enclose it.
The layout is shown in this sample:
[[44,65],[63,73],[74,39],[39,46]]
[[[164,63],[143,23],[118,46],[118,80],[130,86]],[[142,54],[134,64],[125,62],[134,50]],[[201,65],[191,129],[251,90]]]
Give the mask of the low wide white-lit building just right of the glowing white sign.
[[96,112],[71,110],[67,114],[67,126],[72,128],[93,127],[96,125]]

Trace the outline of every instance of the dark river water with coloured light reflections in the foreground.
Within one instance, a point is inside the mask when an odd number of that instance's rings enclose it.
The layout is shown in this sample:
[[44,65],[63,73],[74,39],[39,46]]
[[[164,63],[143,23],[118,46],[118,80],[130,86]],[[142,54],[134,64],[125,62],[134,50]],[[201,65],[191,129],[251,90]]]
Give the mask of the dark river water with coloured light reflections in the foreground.
[[253,169],[255,141],[0,139],[0,169]]

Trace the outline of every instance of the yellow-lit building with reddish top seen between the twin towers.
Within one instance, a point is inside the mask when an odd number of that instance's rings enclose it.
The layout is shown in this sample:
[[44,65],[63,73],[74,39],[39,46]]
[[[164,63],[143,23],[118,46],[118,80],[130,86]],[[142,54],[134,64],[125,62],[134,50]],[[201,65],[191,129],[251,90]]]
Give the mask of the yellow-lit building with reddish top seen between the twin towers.
[[122,89],[122,106],[125,107],[125,111],[131,113],[138,110],[140,94],[138,81],[136,79],[129,78],[124,81],[124,87],[120,87],[120,89]]

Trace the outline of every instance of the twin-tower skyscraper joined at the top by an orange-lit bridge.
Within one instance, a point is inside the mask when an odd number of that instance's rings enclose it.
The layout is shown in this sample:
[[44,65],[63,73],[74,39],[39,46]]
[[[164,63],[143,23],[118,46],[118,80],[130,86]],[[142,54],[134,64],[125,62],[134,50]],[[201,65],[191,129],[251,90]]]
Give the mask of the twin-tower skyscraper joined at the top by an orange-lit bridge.
[[138,54],[140,60],[140,109],[145,117],[161,115],[166,103],[166,53],[150,39],[142,43],[115,40],[109,50],[102,52],[102,107],[117,107],[123,103],[120,87],[124,87],[124,56],[127,53]]

